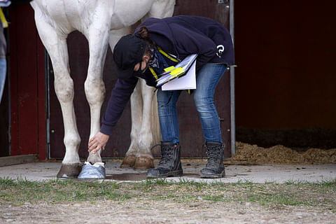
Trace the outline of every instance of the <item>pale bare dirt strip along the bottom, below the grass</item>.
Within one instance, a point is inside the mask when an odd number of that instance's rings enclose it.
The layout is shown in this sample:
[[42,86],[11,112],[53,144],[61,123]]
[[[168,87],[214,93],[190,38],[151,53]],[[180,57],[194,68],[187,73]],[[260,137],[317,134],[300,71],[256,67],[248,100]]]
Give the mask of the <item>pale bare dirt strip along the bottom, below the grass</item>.
[[334,223],[335,214],[305,207],[228,202],[80,202],[1,204],[1,223]]

